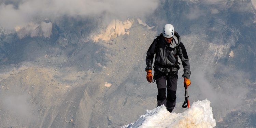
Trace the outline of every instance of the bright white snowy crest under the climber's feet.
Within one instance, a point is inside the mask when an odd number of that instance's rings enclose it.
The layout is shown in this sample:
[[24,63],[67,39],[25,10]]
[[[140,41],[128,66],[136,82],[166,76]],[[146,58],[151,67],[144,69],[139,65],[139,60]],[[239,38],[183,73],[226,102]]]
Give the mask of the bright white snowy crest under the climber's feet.
[[170,113],[164,105],[150,110],[130,125],[122,128],[213,128],[213,118],[209,100],[194,102],[183,113]]

